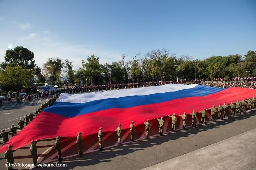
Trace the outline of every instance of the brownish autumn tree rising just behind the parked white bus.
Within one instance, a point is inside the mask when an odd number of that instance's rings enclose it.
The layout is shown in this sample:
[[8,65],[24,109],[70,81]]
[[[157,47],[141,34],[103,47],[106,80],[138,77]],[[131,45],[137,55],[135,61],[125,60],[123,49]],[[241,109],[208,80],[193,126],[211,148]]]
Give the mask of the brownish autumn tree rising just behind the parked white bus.
[[44,76],[48,78],[52,84],[55,84],[55,82],[59,82],[62,68],[60,58],[48,58],[46,63],[43,64],[43,68]]

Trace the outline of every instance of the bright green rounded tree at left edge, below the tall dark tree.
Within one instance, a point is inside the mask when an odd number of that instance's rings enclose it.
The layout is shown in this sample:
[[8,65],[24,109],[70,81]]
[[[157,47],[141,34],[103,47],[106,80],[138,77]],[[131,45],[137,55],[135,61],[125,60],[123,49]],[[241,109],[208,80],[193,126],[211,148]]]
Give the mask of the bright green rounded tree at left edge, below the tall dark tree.
[[20,91],[21,88],[29,88],[33,85],[34,71],[24,69],[21,66],[6,66],[0,71],[0,83],[7,89]]

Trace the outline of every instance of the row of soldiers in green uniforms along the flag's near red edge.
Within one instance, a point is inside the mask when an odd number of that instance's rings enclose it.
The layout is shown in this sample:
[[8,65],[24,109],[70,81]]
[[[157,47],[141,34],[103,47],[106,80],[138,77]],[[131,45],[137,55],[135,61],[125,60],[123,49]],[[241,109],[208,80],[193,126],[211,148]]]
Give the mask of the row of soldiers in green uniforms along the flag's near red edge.
[[[246,103],[247,102],[247,103]],[[241,102],[239,100],[237,100],[235,102],[235,104],[233,102],[231,102],[230,105],[227,105],[227,103],[224,103],[223,106],[221,106],[219,104],[218,107],[215,107],[215,105],[213,105],[212,108],[210,108],[209,110],[211,110],[211,121],[214,121],[216,122],[216,119],[215,119],[215,115],[216,113],[218,113],[218,118],[219,119],[223,119],[223,117],[225,116],[229,116],[230,115],[233,115],[235,116],[235,113],[240,113],[241,114],[241,107],[242,107],[242,110],[244,110],[244,112],[246,112],[246,105],[247,105],[247,108],[252,110],[254,109],[255,107],[255,102],[256,102],[256,98],[253,97],[252,99],[249,98],[247,100],[242,100]],[[230,115],[228,114],[228,109],[230,108]],[[207,125],[206,123],[206,108],[204,108],[202,111],[199,111],[198,113],[201,113],[202,116],[201,116],[201,123],[204,123]],[[188,115],[191,115],[192,116],[192,127],[195,127],[196,128],[196,112],[195,110],[192,111],[192,113],[188,114]],[[172,131],[173,132],[177,132],[176,131],[176,124],[177,124],[177,116],[175,113],[173,113],[173,115],[168,115],[169,117],[171,117],[172,119]],[[180,117],[182,117],[182,120],[183,120],[183,129],[187,129],[186,128],[186,125],[187,125],[187,113],[184,112],[183,115],[179,115]],[[156,118],[157,121],[159,122],[159,135],[160,136],[163,136],[163,132],[164,132],[164,120],[163,120],[164,117],[161,117],[160,119]],[[135,121],[132,121],[132,123],[130,124],[130,133],[131,133],[131,142],[135,142],[134,141],[134,123]],[[149,134],[149,128],[150,128],[150,122],[149,122],[149,119],[147,119],[146,122],[144,122],[145,124],[145,135],[146,135],[146,138],[149,139],[148,137],[148,134]],[[121,123],[118,124],[118,127],[116,128],[116,132],[117,132],[117,137],[118,137],[118,145],[119,146],[122,146],[122,129],[121,129]],[[99,148],[100,148],[100,151],[103,151],[103,146],[102,146],[102,142],[103,142],[103,133],[102,133],[102,127],[100,127],[99,129],[99,132],[98,132],[98,138],[99,138]],[[78,156],[79,157],[82,157],[82,132],[78,132],[78,136],[76,137],[76,144],[77,144],[77,149],[78,149]],[[61,147],[60,147],[60,139],[61,139],[61,136],[57,136],[56,137],[56,141],[55,141],[55,150],[57,152],[57,155],[58,155],[58,161],[61,162],[62,161],[62,158],[61,158]],[[36,140],[32,140],[31,141],[31,146],[30,146],[30,153],[32,155],[32,159],[33,159],[33,164],[35,167],[38,167],[37,165],[37,150],[36,150],[36,143],[39,141]],[[17,150],[17,149],[16,149]],[[11,163],[13,164],[13,154],[12,152],[15,152],[16,150],[12,150],[12,145],[9,145],[8,146],[8,150],[5,152],[4,154],[4,159],[7,160],[7,163]]]

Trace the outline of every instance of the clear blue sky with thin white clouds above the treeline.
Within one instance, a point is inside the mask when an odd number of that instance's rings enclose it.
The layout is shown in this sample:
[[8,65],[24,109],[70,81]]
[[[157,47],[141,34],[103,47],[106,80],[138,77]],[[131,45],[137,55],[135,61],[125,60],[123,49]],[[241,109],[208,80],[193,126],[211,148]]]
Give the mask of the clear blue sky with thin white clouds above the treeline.
[[256,50],[256,1],[3,1],[0,62],[23,46],[41,66],[48,57],[101,63],[153,49],[193,58]]

